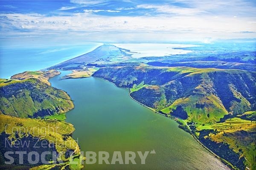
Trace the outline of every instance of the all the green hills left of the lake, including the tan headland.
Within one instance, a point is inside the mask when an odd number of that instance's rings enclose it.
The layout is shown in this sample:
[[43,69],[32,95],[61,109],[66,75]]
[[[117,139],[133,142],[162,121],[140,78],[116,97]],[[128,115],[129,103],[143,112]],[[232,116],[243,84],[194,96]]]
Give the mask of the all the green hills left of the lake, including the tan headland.
[[[79,146],[72,138],[75,130],[73,125],[59,121],[65,119],[64,113],[71,110],[74,105],[66,92],[50,86],[48,79],[57,74],[60,73],[54,70],[26,71],[14,75],[12,79],[0,79],[0,141],[7,140],[11,144],[7,147],[4,147],[3,143],[0,144],[0,169],[32,167],[35,170],[77,170],[83,167],[81,162],[72,165],[69,162],[70,157],[74,161],[85,158],[81,156]],[[26,142],[29,145],[13,147],[12,145],[17,142]],[[45,143],[48,144],[47,147],[43,147]],[[35,148],[35,144],[38,144],[38,147]],[[20,166],[17,155],[13,155],[14,164],[4,164],[3,161],[8,159],[5,160],[3,153],[24,150],[36,151],[39,154],[44,151],[56,151],[57,162],[52,161],[52,156],[47,156],[46,159],[57,164],[44,164],[41,161],[38,164],[29,164],[25,157],[23,166]],[[70,152],[73,154],[70,155]]]

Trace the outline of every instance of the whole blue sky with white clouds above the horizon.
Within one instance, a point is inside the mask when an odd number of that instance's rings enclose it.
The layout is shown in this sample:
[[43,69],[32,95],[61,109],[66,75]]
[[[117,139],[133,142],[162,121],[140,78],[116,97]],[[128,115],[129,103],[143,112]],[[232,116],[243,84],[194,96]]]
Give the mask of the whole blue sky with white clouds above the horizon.
[[0,33],[0,45],[256,38],[256,0],[1,0]]

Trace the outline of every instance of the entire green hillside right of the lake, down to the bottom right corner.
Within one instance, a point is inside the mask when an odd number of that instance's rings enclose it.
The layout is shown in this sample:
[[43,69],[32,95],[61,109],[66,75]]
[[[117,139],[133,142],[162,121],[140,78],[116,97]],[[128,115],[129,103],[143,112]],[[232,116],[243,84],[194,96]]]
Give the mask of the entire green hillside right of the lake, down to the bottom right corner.
[[183,119],[184,127],[230,167],[255,168],[256,72],[142,64],[104,67],[93,76],[130,88],[143,105]]

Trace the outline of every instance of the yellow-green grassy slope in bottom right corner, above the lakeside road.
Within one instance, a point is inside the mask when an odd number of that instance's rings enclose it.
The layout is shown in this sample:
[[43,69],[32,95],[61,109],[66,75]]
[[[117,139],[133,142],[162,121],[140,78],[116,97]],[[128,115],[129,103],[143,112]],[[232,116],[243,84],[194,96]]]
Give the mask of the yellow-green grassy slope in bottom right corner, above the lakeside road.
[[244,120],[240,118],[227,119],[225,122],[216,123],[213,125],[205,125],[198,127],[200,129],[214,129],[216,134],[209,134],[212,141],[223,142],[240,156],[245,156],[247,167],[256,169],[256,122]]

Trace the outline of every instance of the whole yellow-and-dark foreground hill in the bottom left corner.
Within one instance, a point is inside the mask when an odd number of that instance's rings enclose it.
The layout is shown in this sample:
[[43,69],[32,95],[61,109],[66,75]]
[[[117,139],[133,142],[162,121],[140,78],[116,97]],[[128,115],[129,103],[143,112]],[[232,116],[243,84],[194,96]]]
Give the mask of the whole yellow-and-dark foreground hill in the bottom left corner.
[[[9,161],[9,159],[0,154],[1,169],[12,169],[13,166],[17,166],[17,169],[31,167],[33,167],[32,169],[61,169],[66,167],[70,170],[75,170],[78,169],[77,167],[83,167],[80,163],[71,165],[69,162],[70,156],[74,161],[78,161],[81,155],[78,144],[71,136],[75,130],[73,125],[55,120],[24,119],[3,114],[0,114],[0,120],[0,153],[6,153],[7,151],[26,151],[26,153],[35,151],[41,155],[44,151],[49,151],[57,153],[58,161],[55,164],[44,165],[45,163],[40,159],[37,164],[29,164],[28,154],[24,154],[23,166],[20,166],[19,155],[9,154],[14,158],[14,163],[8,165],[4,164],[3,161]],[[70,152],[74,152],[73,155],[70,155]],[[49,162],[54,162],[52,155],[46,156],[45,159]],[[82,159],[84,158],[81,157]]]

